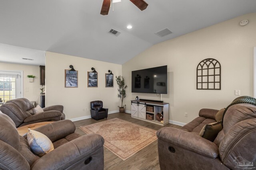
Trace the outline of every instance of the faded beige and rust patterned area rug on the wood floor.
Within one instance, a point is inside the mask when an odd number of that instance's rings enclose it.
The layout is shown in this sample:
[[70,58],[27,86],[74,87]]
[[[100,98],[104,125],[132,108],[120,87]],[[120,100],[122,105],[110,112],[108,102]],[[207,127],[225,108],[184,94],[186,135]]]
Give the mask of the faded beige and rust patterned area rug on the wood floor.
[[81,126],[80,129],[87,134],[102,135],[105,140],[104,146],[122,160],[126,160],[157,139],[155,130],[118,118]]

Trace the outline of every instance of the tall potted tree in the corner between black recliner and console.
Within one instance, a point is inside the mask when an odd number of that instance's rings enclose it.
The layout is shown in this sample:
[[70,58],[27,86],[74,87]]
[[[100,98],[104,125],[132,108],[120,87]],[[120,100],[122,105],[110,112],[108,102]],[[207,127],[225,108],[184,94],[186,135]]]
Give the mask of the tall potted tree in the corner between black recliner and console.
[[125,89],[127,88],[127,85],[124,84],[124,78],[123,76],[116,76],[116,83],[118,85],[118,98],[121,98],[121,107],[119,107],[119,112],[124,113],[124,106],[123,106],[123,100],[126,97]]

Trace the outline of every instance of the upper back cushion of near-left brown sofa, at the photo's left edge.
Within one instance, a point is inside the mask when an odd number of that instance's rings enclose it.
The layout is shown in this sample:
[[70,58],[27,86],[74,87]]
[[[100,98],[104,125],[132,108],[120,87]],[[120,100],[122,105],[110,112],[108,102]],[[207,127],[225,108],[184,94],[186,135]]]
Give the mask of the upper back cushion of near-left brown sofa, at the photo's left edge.
[[20,151],[20,135],[12,119],[0,113],[0,140]]

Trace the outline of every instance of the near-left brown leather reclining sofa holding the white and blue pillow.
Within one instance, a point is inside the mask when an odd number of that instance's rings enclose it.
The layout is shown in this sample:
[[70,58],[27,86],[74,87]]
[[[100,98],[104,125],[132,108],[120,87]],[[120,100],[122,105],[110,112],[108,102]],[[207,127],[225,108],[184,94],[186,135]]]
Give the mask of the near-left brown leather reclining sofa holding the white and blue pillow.
[[0,113],[1,170],[103,170],[104,139],[98,134],[80,136],[70,120],[44,125],[35,131],[46,135],[54,150],[42,157],[30,151],[26,136],[18,134],[12,119]]

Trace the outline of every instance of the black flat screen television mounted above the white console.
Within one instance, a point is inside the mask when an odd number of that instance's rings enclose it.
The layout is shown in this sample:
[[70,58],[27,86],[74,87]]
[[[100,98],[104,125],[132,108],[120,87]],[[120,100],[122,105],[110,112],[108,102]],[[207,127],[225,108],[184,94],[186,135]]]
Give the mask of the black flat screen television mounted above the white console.
[[167,66],[132,71],[132,93],[167,94]]

